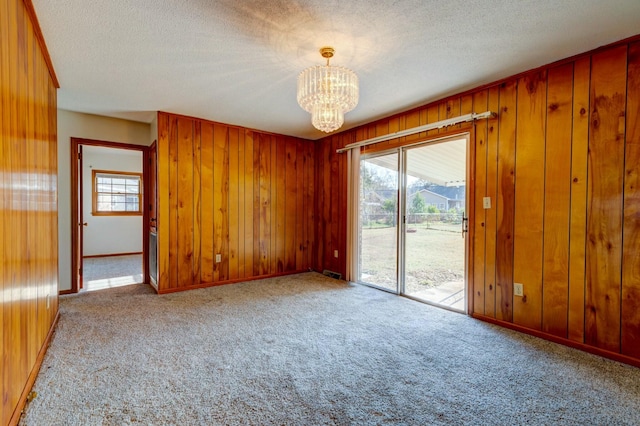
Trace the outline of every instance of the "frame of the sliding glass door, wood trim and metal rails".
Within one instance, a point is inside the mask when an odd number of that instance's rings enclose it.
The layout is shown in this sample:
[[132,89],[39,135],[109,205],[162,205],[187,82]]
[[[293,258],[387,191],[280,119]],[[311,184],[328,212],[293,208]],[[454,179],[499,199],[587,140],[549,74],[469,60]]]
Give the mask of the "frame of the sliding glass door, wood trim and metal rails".
[[[464,276],[465,276],[465,284],[466,284],[466,311],[464,312],[466,315],[471,315],[471,313],[473,312],[473,246],[474,246],[474,227],[473,224],[475,223],[475,192],[476,192],[476,188],[475,188],[475,175],[476,175],[476,169],[475,169],[475,164],[476,164],[476,149],[475,149],[475,125],[471,125],[469,127],[466,128],[460,128],[460,129],[452,129],[449,131],[445,131],[442,133],[439,133],[437,135],[433,135],[433,136],[428,136],[428,137],[424,137],[424,138],[420,138],[419,140],[413,141],[411,143],[407,143],[407,144],[399,144],[393,147],[384,147],[381,149],[375,149],[375,147],[373,147],[373,149],[368,149],[366,152],[364,152],[361,157],[360,157],[360,161],[362,161],[363,159],[366,159],[367,157],[373,157],[373,156],[378,156],[378,155],[387,155],[390,153],[397,153],[398,154],[398,205],[397,205],[397,217],[398,217],[398,232],[397,232],[397,258],[396,258],[396,271],[397,271],[397,277],[396,277],[396,291],[389,291],[388,289],[384,289],[382,287],[376,286],[376,285],[371,285],[368,283],[364,283],[364,282],[359,282],[360,284],[363,285],[367,285],[376,289],[380,289],[383,291],[387,291],[393,294],[397,294],[399,296],[403,296],[412,300],[418,300],[422,303],[426,303],[426,304],[430,304],[432,305],[432,303],[422,300],[422,299],[416,299],[414,297],[408,296],[407,294],[404,293],[404,279],[401,279],[400,274],[404,274],[404,229],[406,224],[404,223],[404,218],[402,217],[401,213],[402,210],[405,207],[403,206],[403,203],[405,203],[406,201],[406,188],[404,188],[405,184],[406,184],[406,164],[405,164],[405,156],[406,156],[406,151],[412,148],[417,148],[420,145],[429,145],[429,144],[435,144],[435,143],[446,143],[446,140],[448,139],[456,139],[456,138],[465,138],[467,140],[467,158],[466,158],[466,179],[467,179],[467,185],[466,185],[466,206],[465,206],[465,215],[466,215],[466,242],[465,242],[465,252],[464,252],[464,264],[465,264],[465,271],[464,271]],[[360,165],[358,165],[359,167]],[[359,183],[358,183],[359,185]],[[358,186],[359,188],[359,186]],[[405,203],[406,204],[406,203]],[[464,220],[463,220],[463,224],[464,224]],[[358,227],[360,227],[360,224],[358,223]],[[360,248],[358,247],[358,256],[360,256]],[[359,262],[358,262],[359,263]],[[357,276],[359,276],[360,271],[357,272]],[[435,305],[439,308],[442,309],[448,309],[446,306],[441,306],[441,305]],[[452,310],[454,312],[460,312],[459,310]]]

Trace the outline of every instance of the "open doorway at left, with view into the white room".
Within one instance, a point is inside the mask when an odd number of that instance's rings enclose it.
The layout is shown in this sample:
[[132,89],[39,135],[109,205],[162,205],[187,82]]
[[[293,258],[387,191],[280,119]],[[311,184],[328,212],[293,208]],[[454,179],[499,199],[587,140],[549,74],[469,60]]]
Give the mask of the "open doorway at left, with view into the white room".
[[148,148],[71,138],[71,292],[149,282]]

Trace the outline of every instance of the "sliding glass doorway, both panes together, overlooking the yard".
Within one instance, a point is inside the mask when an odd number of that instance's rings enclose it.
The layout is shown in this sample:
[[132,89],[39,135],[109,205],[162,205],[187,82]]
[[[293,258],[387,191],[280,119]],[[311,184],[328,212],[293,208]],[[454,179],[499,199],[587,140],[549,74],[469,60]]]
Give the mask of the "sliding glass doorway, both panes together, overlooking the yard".
[[467,134],[360,159],[358,281],[466,312]]

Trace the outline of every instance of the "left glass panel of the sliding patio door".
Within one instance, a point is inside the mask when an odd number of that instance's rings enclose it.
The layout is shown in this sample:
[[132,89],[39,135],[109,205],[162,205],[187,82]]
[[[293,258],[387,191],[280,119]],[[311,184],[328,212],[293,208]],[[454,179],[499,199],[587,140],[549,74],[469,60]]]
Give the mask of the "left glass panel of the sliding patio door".
[[398,154],[360,160],[358,281],[398,291]]

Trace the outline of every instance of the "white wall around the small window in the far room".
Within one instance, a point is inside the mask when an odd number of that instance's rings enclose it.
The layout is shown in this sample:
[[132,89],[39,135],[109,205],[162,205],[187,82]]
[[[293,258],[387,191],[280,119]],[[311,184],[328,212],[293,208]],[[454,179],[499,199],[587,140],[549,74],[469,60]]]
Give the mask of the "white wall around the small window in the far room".
[[93,170],[142,173],[142,151],[85,146],[82,150],[83,256],[142,252],[142,215],[94,216]]

